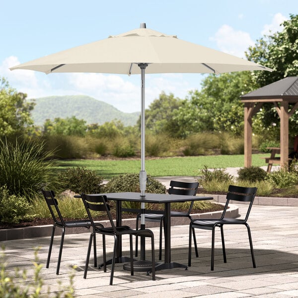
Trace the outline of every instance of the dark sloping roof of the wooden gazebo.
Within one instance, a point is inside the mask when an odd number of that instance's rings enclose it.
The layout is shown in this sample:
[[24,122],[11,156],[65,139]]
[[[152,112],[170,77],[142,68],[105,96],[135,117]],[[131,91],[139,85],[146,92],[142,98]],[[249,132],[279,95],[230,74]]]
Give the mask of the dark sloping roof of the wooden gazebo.
[[298,97],[298,76],[285,77],[257,90],[241,96],[245,99],[284,99],[291,100]]

